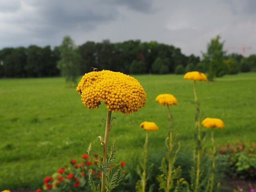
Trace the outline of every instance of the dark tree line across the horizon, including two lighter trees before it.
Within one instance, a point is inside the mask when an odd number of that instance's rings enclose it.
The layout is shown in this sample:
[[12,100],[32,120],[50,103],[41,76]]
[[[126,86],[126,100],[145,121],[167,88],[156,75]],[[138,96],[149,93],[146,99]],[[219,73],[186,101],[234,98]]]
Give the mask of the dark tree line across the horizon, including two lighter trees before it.
[[111,43],[88,41],[74,45],[69,36],[53,49],[31,45],[27,48],[0,50],[0,77],[50,77],[83,75],[92,71],[112,70],[125,74],[182,74],[192,70],[212,72],[212,76],[236,74],[256,69],[256,55],[244,58],[240,54],[226,55],[220,37],[212,39],[207,52],[186,56],[180,48],[155,41],[128,40]]

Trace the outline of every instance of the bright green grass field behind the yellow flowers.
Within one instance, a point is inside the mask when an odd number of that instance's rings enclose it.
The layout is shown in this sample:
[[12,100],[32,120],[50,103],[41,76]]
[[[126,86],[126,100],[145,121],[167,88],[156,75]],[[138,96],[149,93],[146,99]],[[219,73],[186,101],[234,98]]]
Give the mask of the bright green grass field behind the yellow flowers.
[[[164,93],[178,100],[177,106],[171,106],[174,126],[181,150],[192,151],[193,81],[173,74],[134,77],[144,87],[147,102],[134,114],[112,114],[116,119],[110,140],[118,138],[116,161],[129,161],[142,151],[145,132],[139,125],[143,121],[159,126],[158,132],[149,135],[151,152],[164,150],[167,108],[155,102],[156,96]],[[221,118],[226,125],[215,131],[216,144],[256,140],[256,73],[196,84],[201,119]],[[90,142],[94,152],[102,153],[98,139],[104,136],[102,119],[106,119],[106,106],[88,110],[75,88],[66,87],[64,78],[0,79],[0,190],[42,186],[44,176],[56,172],[71,158],[80,159]]]

